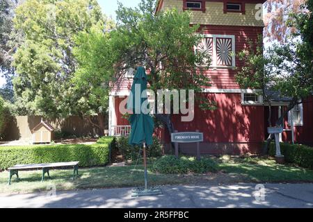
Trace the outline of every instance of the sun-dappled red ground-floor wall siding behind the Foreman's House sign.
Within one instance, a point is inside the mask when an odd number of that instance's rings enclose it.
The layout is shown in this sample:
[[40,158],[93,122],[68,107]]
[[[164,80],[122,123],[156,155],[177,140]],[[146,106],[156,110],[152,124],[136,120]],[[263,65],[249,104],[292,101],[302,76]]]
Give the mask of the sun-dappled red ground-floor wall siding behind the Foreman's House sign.
[[241,94],[207,94],[214,99],[217,110],[195,108],[195,119],[182,122],[173,116],[175,128],[180,132],[200,130],[205,142],[262,142],[264,139],[263,106],[241,105]]

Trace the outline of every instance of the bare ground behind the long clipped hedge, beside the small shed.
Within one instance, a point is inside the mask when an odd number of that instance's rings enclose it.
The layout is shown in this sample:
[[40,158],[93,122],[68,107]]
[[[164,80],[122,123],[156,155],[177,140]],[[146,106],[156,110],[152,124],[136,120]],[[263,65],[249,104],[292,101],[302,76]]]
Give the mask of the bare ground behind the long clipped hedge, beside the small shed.
[[[96,138],[56,139],[54,144],[95,144]],[[8,142],[0,142],[0,146],[28,146],[32,145],[31,139],[20,139]]]

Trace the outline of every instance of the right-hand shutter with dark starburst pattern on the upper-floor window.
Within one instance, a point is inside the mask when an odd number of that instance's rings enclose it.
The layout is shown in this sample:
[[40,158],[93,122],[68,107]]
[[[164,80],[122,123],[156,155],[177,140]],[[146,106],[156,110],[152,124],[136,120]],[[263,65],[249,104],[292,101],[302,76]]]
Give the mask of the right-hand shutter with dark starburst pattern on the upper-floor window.
[[232,66],[232,39],[216,38],[216,65]]

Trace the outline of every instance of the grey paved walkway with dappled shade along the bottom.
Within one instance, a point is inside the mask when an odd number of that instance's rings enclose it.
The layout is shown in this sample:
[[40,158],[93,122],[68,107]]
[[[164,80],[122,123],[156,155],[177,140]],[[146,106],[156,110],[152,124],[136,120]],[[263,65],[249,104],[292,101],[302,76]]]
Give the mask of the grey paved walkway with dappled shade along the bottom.
[[255,186],[165,186],[163,195],[139,198],[131,197],[131,188],[0,194],[0,207],[313,207],[313,184]]

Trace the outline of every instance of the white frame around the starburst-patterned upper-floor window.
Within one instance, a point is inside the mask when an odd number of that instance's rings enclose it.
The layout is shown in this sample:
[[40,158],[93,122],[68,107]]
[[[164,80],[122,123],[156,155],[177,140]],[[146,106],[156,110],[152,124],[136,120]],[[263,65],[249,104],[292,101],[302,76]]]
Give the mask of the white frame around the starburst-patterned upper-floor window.
[[[202,34],[203,38],[211,37],[213,39],[213,51],[212,51],[212,57],[211,57],[211,65],[210,68],[227,68],[227,69],[234,69],[236,67],[236,56],[235,56],[235,49],[236,49],[236,42],[234,35],[211,35],[211,34]],[[216,59],[216,38],[230,38],[232,39],[232,65],[231,66],[222,66],[217,65],[217,59]],[[196,49],[196,47],[195,47]],[[201,65],[199,65],[201,67]]]

